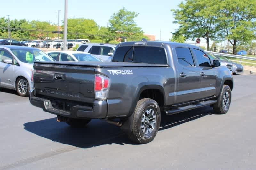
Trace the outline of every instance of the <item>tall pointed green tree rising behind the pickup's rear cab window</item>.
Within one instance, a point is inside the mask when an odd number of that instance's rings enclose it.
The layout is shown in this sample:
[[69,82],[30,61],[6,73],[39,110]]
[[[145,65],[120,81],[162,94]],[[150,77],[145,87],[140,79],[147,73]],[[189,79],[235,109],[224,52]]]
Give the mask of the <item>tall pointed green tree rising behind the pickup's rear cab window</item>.
[[143,35],[143,30],[134,21],[138,15],[139,13],[128,11],[126,8],[120,9],[111,16],[109,31],[117,37],[128,37],[129,40],[133,41],[148,38]]

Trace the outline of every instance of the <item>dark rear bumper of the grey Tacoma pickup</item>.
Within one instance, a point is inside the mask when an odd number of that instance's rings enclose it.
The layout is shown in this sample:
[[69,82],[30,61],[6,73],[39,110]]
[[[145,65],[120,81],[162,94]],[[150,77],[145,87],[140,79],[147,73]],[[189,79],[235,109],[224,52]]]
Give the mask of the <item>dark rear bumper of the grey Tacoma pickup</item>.
[[95,100],[93,103],[93,107],[76,105],[71,107],[69,110],[61,110],[54,108],[52,106],[51,100],[36,97],[34,95],[34,90],[31,90],[29,93],[29,101],[32,105],[42,108],[45,112],[69,118],[95,119],[105,118],[107,116],[106,100]]

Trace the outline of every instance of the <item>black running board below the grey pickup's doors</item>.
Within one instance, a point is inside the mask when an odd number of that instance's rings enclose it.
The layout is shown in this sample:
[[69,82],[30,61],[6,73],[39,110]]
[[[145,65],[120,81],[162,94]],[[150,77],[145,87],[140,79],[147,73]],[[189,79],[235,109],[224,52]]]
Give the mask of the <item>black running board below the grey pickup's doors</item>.
[[207,105],[212,105],[216,102],[217,102],[217,100],[201,101],[201,102],[191,104],[191,105],[188,105],[188,106],[178,107],[178,108],[171,109],[171,110],[165,110],[165,113],[166,113],[166,115],[172,115],[172,114],[192,110],[192,109],[195,109],[195,108],[204,107],[204,106],[207,106]]

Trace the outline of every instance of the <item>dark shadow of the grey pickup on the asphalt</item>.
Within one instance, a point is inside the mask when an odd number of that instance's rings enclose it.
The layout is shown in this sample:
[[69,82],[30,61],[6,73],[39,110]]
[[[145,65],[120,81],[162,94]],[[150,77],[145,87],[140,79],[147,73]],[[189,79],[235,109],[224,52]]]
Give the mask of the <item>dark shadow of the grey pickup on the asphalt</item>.
[[[163,115],[159,130],[172,128],[212,113],[212,108],[208,106],[176,115]],[[98,119],[92,120],[85,128],[71,128],[64,122],[56,122],[56,118],[50,118],[25,123],[24,129],[54,142],[79,148],[106,144],[134,144],[119,127]]]

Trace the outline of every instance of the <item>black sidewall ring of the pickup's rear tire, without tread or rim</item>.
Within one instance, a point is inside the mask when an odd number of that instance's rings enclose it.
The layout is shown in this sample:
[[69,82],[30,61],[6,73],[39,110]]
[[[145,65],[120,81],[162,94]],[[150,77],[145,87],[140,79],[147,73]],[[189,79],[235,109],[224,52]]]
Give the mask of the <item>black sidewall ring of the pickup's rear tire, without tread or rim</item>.
[[[142,129],[141,129],[141,119],[142,119],[143,114],[148,109],[152,109],[156,113],[156,125],[155,125],[155,128],[153,129],[153,131],[146,135],[142,132]],[[142,139],[142,141],[144,143],[148,143],[154,139],[154,137],[156,136],[156,134],[158,132],[158,129],[160,126],[160,121],[161,121],[161,112],[160,112],[160,108],[159,108],[158,104],[154,100],[144,103],[143,109],[140,110],[139,120],[138,120],[138,122],[136,122],[140,138]]]

